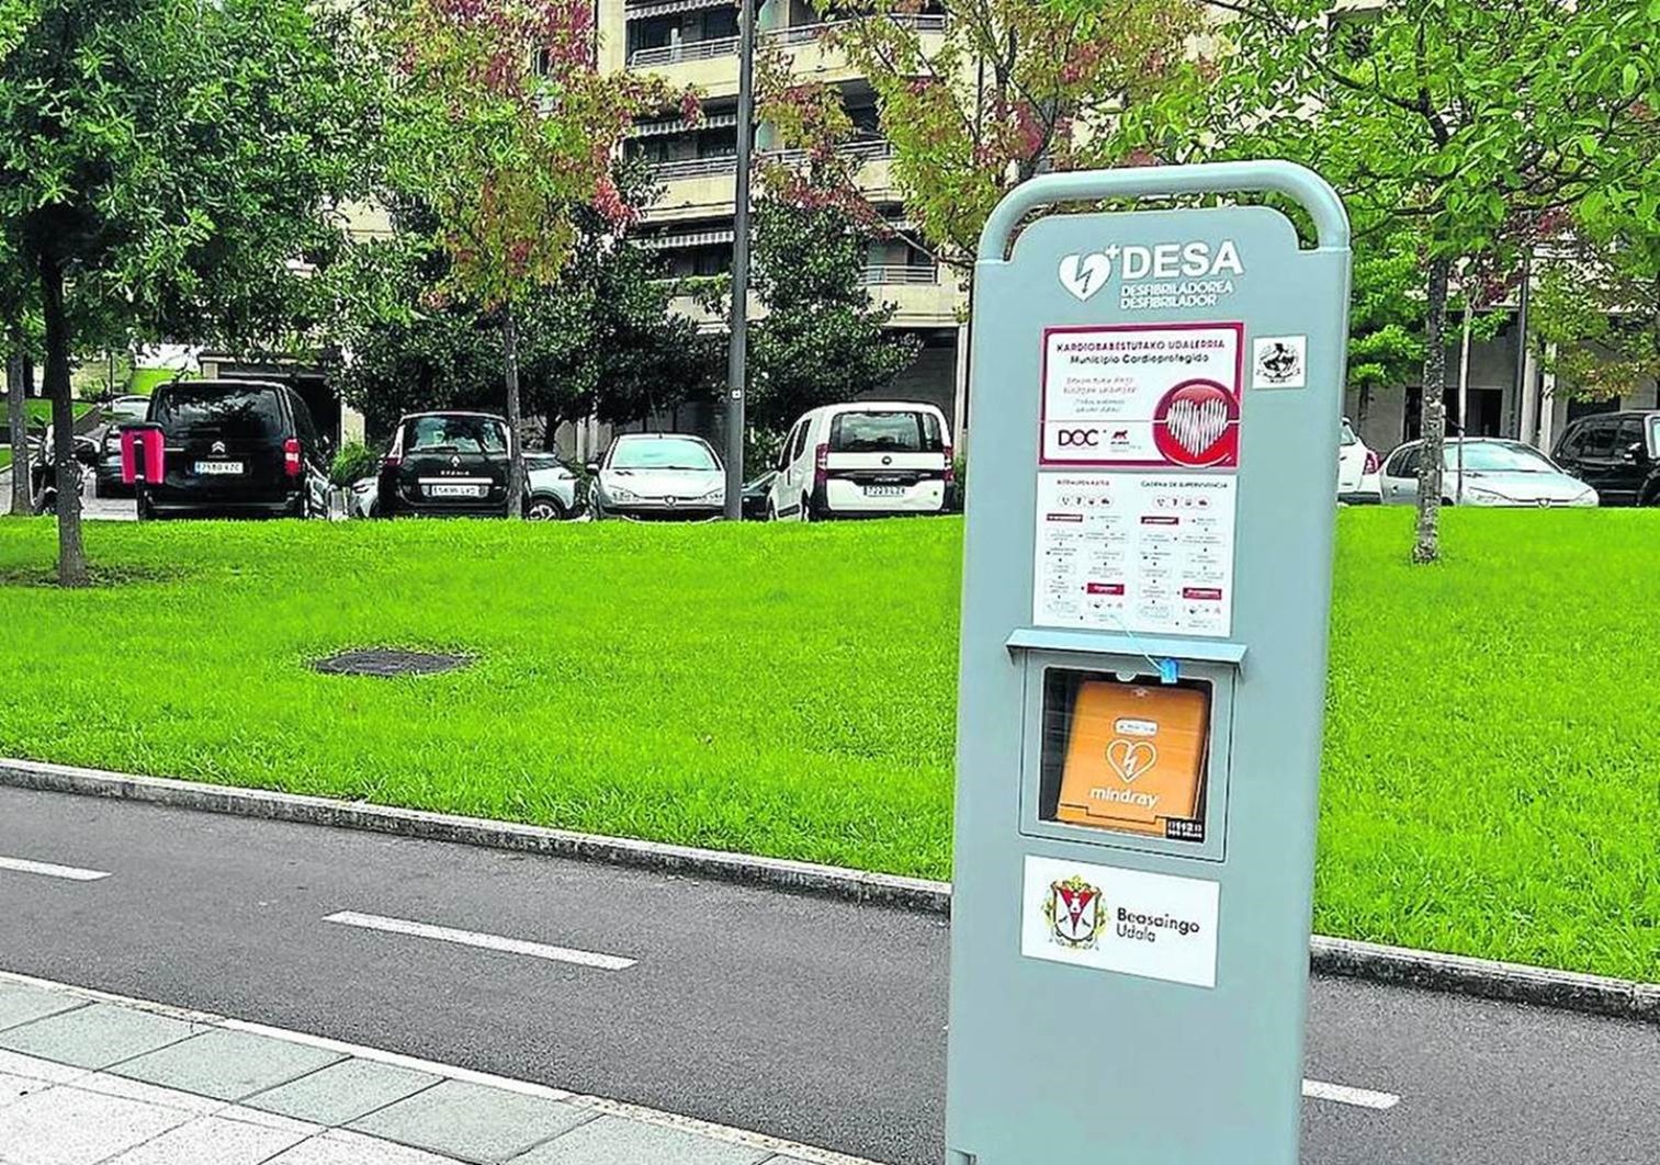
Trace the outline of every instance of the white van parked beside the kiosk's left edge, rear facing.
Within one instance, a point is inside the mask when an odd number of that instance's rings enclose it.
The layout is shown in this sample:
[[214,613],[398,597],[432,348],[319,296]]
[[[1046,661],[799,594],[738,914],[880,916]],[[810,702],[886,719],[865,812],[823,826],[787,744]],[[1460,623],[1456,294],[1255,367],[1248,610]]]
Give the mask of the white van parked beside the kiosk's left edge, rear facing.
[[933,405],[825,405],[784,438],[767,516],[936,514],[946,506],[951,476],[951,430]]

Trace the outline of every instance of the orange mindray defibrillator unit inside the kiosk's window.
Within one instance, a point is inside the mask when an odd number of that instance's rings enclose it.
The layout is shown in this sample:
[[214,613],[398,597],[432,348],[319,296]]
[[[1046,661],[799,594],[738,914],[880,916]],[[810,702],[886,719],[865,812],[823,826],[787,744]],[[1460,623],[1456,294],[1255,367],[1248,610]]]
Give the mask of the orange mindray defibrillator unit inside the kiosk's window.
[[1077,685],[1056,818],[1202,840],[1210,694],[1200,687]]

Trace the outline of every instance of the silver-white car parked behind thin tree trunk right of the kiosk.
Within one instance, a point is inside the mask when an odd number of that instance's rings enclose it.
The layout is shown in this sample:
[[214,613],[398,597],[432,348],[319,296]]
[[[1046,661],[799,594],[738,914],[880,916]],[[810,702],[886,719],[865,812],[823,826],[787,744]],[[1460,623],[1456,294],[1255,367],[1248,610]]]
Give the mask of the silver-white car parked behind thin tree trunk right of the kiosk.
[[[1418,503],[1423,441],[1408,441],[1383,463],[1384,505]],[[1462,473],[1459,448],[1462,446]],[[1597,491],[1562,473],[1522,441],[1449,436],[1443,448],[1441,501],[1466,506],[1595,506]]]

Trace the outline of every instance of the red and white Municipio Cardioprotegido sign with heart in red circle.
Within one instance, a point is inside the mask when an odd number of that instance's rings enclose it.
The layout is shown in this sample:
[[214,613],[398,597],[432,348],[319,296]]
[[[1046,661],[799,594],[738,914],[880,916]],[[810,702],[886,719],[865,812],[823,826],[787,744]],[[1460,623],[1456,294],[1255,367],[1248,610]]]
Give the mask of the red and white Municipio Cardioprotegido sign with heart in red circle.
[[1243,324],[1051,327],[1042,465],[1232,470]]

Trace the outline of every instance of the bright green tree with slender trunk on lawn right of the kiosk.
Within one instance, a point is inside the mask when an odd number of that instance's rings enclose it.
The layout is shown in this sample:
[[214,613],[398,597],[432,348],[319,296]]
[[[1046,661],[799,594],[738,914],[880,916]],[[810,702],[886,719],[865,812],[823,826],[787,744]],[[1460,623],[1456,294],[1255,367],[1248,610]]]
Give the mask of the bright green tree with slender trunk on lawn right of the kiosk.
[[1466,261],[1514,272],[1539,216],[1632,181],[1633,115],[1657,98],[1640,61],[1660,10],[1399,0],[1328,17],[1326,0],[1212,3],[1235,20],[1218,30],[1213,80],[1174,90],[1204,108],[1174,138],[1213,156],[1303,161],[1356,222],[1413,241],[1426,443],[1413,559],[1434,561],[1452,274]]

